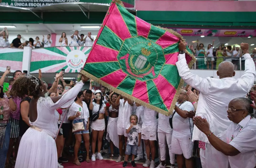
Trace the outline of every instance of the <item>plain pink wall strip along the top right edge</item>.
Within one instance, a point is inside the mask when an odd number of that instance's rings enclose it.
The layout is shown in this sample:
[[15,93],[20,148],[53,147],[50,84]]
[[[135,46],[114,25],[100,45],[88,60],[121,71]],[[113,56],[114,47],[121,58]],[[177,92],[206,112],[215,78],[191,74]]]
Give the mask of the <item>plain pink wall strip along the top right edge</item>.
[[240,0],[136,0],[138,11],[256,12],[256,1]]

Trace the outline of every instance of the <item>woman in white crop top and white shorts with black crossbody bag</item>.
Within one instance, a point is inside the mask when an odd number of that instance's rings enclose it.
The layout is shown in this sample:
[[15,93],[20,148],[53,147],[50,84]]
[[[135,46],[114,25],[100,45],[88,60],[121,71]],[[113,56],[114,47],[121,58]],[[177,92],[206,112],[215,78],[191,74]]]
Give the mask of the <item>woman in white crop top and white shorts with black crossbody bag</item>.
[[99,118],[95,121],[93,121],[93,115],[92,115],[92,121],[91,121],[91,131],[93,135],[92,140],[92,161],[94,162],[96,160],[96,154],[95,154],[95,148],[96,148],[96,141],[98,139],[98,153],[97,158],[99,160],[103,160],[103,157],[101,156],[101,145],[102,145],[102,138],[103,134],[105,132],[105,119],[104,114],[107,115],[107,109],[105,108],[106,105],[103,103],[104,97],[100,90],[95,91],[95,95],[92,96],[91,102],[90,102],[90,110],[92,110],[92,114],[99,113]]

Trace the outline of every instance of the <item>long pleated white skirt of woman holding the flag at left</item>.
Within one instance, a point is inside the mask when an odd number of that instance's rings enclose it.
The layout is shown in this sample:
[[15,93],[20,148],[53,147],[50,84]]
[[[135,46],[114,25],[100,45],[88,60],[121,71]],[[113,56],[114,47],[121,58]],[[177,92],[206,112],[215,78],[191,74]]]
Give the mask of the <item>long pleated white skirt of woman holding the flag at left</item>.
[[15,168],[57,168],[54,139],[44,131],[28,128],[20,140]]

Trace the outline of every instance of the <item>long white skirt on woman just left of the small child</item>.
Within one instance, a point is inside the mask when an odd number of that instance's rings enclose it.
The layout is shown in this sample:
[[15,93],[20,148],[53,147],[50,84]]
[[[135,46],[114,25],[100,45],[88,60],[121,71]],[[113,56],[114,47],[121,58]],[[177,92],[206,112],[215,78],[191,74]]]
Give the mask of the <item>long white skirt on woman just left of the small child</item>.
[[117,135],[117,118],[109,117],[109,121],[107,123],[107,135],[106,139],[110,142],[113,142],[115,147],[119,148],[119,137]]

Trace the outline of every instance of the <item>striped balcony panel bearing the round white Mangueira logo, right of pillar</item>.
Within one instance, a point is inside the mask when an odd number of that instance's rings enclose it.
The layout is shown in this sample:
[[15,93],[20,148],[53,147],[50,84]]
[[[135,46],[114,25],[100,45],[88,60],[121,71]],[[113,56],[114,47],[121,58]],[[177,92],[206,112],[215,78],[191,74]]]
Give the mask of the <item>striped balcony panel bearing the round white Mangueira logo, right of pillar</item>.
[[47,47],[32,49],[30,73],[58,73],[65,69],[66,73],[81,71],[91,47]]

